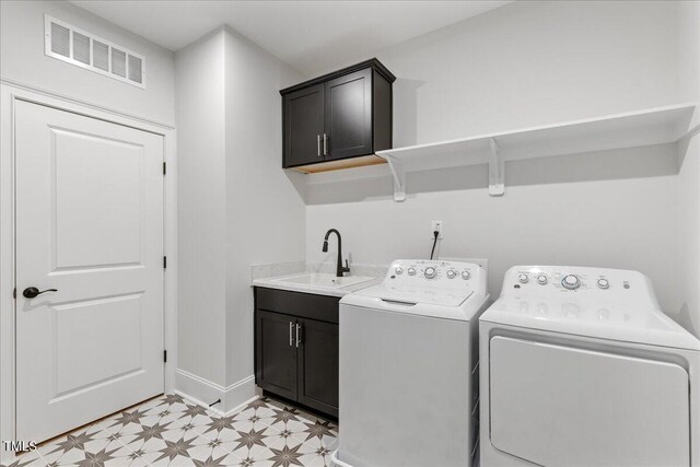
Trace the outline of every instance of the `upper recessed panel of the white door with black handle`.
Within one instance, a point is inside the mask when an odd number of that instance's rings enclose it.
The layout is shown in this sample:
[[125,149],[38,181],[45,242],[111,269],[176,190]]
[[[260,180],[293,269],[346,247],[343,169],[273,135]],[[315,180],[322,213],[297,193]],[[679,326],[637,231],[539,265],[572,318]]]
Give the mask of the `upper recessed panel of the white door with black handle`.
[[140,265],[144,148],[56,129],[52,137],[54,271]]

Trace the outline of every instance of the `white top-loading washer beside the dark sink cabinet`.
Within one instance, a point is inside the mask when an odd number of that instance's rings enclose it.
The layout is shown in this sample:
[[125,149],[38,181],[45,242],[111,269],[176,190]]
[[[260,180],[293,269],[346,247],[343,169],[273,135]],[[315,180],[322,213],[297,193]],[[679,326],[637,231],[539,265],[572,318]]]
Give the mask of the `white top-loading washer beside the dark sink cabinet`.
[[337,465],[471,465],[488,297],[478,265],[407,259],[340,301]]

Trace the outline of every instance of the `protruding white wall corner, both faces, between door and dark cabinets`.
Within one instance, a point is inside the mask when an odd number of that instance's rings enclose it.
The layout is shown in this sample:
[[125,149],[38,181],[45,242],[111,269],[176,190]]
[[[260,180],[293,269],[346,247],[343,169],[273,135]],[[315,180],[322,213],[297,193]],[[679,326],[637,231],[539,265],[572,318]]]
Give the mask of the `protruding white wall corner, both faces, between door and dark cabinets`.
[[176,74],[177,388],[228,411],[255,390],[250,265],[305,257],[278,93],[302,75],[228,28],[179,50]]

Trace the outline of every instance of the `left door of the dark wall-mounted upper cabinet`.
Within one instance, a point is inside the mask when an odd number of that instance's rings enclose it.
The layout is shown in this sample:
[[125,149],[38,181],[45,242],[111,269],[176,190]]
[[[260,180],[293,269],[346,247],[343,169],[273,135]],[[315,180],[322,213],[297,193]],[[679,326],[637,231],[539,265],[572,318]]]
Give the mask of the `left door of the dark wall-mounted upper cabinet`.
[[324,85],[284,95],[284,167],[322,162]]

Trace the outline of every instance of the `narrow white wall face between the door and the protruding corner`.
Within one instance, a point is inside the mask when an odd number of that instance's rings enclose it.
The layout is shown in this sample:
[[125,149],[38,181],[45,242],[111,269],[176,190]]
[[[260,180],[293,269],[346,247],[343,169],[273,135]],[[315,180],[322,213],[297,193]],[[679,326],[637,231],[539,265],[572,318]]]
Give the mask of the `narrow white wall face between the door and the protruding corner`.
[[[223,385],[226,354],[223,31],[179,50],[175,58],[178,128],[177,365],[178,370]],[[205,397],[200,394],[194,396]]]

